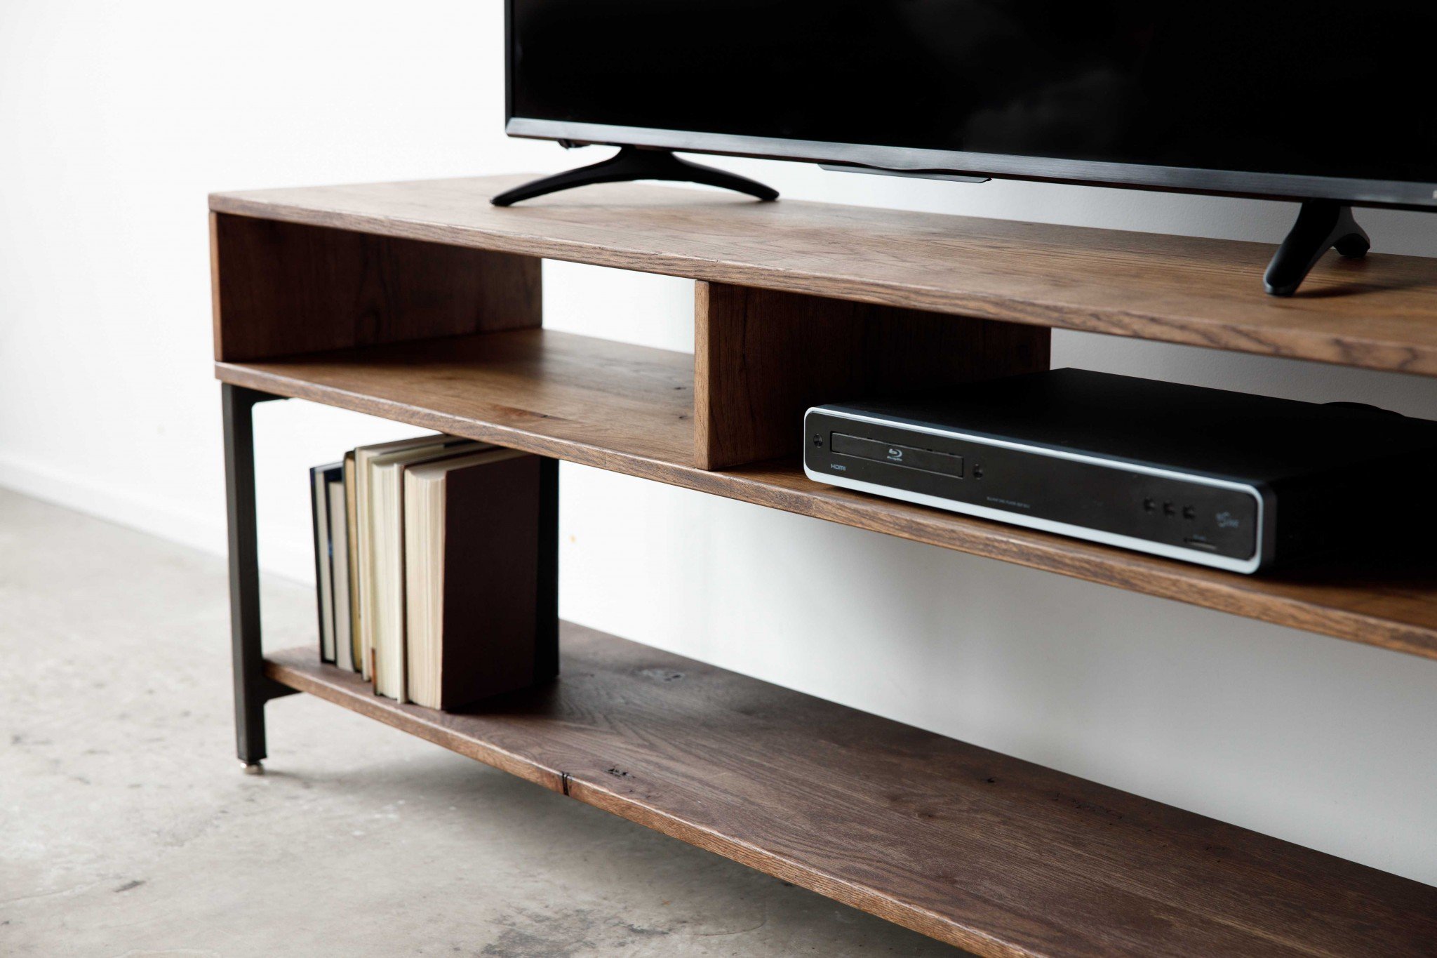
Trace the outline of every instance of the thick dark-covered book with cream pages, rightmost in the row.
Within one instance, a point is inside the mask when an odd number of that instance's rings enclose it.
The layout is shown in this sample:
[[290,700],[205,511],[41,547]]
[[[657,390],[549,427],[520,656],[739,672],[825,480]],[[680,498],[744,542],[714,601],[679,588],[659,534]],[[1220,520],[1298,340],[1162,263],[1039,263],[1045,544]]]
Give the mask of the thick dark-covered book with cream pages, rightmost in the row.
[[537,669],[540,467],[489,450],[404,473],[410,701],[454,710]]

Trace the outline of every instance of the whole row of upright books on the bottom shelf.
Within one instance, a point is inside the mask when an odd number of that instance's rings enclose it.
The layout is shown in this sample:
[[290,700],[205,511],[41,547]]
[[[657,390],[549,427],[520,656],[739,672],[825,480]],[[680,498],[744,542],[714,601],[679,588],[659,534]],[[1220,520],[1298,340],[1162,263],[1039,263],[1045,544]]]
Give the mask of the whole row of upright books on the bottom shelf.
[[533,684],[540,467],[431,434],[312,468],[320,659],[428,708]]

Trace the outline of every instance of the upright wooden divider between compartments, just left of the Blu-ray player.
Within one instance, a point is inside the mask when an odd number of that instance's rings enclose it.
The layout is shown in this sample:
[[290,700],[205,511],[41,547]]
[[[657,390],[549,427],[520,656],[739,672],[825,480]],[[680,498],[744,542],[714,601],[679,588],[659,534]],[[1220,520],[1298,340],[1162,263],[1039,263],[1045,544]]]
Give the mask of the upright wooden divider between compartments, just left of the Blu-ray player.
[[803,411],[1048,369],[1049,330],[696,283],[694,464],[798,454]]

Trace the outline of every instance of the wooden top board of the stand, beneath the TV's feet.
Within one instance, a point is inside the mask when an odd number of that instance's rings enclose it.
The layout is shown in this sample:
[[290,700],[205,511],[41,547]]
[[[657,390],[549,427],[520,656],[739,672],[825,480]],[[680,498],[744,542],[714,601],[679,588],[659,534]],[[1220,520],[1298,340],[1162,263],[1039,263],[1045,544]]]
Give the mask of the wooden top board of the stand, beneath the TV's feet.
[[221,192],[216,213],[1058,329],[1437,375],[1437,260],[608,184],[512,208],[529,177]]

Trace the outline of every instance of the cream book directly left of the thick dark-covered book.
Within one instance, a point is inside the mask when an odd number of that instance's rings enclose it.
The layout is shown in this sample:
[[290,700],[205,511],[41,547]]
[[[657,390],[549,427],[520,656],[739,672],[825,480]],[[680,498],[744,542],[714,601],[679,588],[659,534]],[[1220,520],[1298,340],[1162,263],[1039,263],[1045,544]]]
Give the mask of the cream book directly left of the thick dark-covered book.
[[[369,457],[362,487],[369,529],[371,589],[362,615],[369,632],[374,691],[405,698],[404,470],[417,462],[490,448],[468,440],[430,442]],[[364,520],[361,520],[364,521]]]

